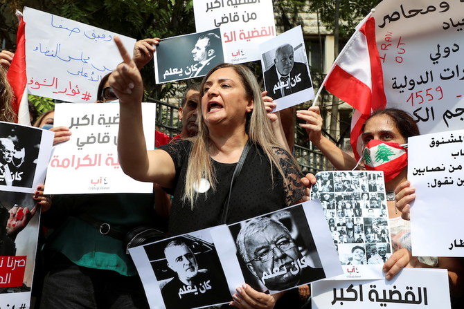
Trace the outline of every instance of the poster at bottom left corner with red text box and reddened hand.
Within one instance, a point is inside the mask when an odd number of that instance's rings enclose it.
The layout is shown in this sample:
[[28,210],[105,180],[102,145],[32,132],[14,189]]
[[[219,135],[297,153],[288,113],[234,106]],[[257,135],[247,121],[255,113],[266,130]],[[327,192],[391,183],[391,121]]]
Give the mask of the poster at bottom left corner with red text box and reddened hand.
[[38,232],[33,195],[0,191],[0,308],[29,308]]

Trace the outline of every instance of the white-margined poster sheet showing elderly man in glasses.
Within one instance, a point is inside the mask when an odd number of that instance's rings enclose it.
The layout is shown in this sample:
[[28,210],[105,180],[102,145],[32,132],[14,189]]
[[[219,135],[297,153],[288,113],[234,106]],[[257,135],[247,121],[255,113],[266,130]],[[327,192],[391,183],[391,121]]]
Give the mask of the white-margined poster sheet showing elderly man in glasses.
[[218,227],[213,234],[226,276],[263,292],[289,290],[341,274],[319,201]]

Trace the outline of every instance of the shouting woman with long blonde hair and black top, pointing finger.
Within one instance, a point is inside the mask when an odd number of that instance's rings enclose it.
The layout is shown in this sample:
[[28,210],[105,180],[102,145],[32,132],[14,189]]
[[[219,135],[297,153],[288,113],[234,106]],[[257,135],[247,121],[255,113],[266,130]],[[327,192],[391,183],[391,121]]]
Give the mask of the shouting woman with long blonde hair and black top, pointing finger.
[[[303,197],[301,172],[289,153],[278,147],[256,78],[244,66],[220,64],[204,77],[196,138],[147,151],[141,124],[141,76],[130,55],[115,41],[124,59],[109,77],[121,102],[121,167],[137,180],[172,188],[172,236],[215,226],[224,217],[226,223],[243,221]],[[235,163],[247,144],[244,168],[234,182],[229,210],[223,213]],[[258,292],[246,284],[236,290],[231,305],[238,308],[274,308],[281,296]]]

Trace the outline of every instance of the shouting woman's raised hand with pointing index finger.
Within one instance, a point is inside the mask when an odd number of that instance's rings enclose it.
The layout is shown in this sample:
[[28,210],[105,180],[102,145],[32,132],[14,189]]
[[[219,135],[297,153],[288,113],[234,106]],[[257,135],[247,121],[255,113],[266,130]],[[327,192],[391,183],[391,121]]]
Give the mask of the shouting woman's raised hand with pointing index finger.
[[123,57],[123,62],[109,75],[109,86],[113,88],[121,104],[140,104],[143,96],[143,82],[139,69],[132,55],[127,53],[121,39],[114,37],[114,42]]

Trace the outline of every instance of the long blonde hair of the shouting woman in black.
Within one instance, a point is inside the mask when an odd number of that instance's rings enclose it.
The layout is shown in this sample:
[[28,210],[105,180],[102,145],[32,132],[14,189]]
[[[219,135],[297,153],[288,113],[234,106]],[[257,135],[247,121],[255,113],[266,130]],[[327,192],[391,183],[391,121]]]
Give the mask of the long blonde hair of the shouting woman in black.
[[249,68],[240,64],[219,64],[208,72],[200,85],[200,102],[198,105],[197,121],[198,121],[198,135],[193,140],[192,151],[190,153],[190,160],[188,160],[187,174],[186,174],[186,187],[183,196],[184,201],[188,201],[193,208],[195,199],[198,192],[195,190],[195,184],[199,184],[202,178],[208,180],[211,184],[211,189],[216,189],[217,179],[213,168],[213,162],[210,156],[211,140],[209,138],[209,129],[202,115],[202,97],[204,95],[204,84],[208,77],[220,68],[233,68],[233,70],[240,76],[242,84],[245,88],[245,94],[248,99],[253,99],[253,111],[247,114],[247,122],[245,124],[245,131],[249,135],[249,140],[252,144],[256,144],[262,148],[271,162],[272,168],[275,166],[280,175],[282,175],[284,182],[285,176],[283,169],[280,166],[278,157],[276,156],[274,147],[278,146],[274,131],[271,129],[271,122],[266,115],[264,102],[262,101],[261,90],[256,81],[256,77],[251,73]]

